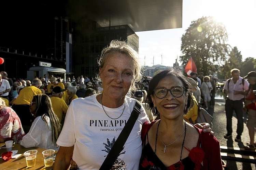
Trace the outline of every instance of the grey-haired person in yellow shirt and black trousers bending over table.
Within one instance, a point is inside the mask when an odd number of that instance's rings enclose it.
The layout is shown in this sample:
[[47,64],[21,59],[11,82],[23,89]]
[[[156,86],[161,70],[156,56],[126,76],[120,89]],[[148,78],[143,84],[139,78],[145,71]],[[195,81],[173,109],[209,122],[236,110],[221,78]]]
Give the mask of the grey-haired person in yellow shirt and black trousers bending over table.
[[29,111],[29,105],[31,104],[33,97],[35,95],[41,94],[39,89],[42,86],[42,81],[39,79],[34,79],[31,86],[24,87],[20,92],[19,96],[13,102],[12,109],[19,116],[20,122],[22,123],[23,129],[27,134],[29,132],[30,126],[34,121],[33,115]]

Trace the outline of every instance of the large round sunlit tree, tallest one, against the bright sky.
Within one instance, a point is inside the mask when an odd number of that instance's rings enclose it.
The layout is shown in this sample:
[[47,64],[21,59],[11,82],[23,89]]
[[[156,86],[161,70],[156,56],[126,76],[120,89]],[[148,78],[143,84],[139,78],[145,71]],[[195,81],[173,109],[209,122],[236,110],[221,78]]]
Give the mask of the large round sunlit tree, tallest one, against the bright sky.
[[213,17],[202,17],[192,21],[186,33],[182,35],[180,62],[186,65],[190,56],[196,63],[197,71],[207,75],[218,71],[227,60],[228,35],[222,23]]

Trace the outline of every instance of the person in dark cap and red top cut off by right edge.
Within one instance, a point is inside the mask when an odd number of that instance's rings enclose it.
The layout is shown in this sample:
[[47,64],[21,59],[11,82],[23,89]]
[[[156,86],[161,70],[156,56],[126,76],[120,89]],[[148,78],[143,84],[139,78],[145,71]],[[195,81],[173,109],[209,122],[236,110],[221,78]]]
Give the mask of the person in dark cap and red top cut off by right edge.
[[256,96],[253,93],[253,90],[256,90],[256,72],[251,71],[244,78],[247,79],[247,81],[250,83],[245,101],[245,106],[249,113],[246,125],[249,130],[250,144],[248,143],[247,146],[245,146],[244,148],[249,150],[255,150],[256,145],[254,143],[254,134],[256,128]]

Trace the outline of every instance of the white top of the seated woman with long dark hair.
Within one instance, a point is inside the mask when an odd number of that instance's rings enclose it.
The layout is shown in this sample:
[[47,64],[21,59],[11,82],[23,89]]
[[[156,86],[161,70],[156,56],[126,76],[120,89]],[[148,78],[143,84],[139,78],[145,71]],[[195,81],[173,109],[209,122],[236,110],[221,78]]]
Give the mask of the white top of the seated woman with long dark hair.
[[[47,123],[42,116],[35,118],[29,132],[22,138],[20,145],[25,148],[38,147],[44,149],[59,150],[56,141],[52,141],[52,125],[50,118],[46,116]],[[48,124],[48,126],[47,126]]]

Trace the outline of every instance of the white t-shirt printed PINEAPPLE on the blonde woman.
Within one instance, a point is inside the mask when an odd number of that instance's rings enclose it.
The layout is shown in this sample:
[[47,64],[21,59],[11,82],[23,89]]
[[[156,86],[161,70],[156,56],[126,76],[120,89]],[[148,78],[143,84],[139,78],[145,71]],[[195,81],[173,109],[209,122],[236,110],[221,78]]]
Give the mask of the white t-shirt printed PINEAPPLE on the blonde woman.
[[[135,99],[126,97],[123,115],[110,119],[103,111],[96,95],[72,100],[65,118],[65,123],[57,144],[63,147],[74,145],[73,160],[80,170],[98,170],[111,147],[109,145],[118,138],[128,121],[135,105]],[[117,118],[123,112],[124,104],[118,108],[105,107],[105,112],[112,118]],[[125,142],[125,147],[118,158],[124,160],[127,170],[139,168],[141,157],[141,127],[149,122],[146,112],[141,107],[133,129]],[[108,141],[109,140],[109,141]]]

